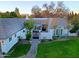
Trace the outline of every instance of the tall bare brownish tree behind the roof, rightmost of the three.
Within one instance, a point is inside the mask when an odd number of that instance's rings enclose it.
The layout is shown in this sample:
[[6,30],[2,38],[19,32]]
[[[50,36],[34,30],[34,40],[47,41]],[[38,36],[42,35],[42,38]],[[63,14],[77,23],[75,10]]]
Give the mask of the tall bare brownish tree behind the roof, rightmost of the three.
[[64,17],[67,16],[68,13],[69,13],[69,9],[65,7],[62,1],[58,1],[56,7],[56,15],[59,17]]

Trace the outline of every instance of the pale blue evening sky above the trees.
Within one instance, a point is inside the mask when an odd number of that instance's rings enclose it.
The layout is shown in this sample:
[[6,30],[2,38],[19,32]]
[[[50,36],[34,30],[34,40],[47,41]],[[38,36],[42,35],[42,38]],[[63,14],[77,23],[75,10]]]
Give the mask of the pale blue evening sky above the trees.
[[[30,14],[33,6],[38,5],[42,8],[44,3],[49,4],[51,1],[0,1],[0,11],[14,11],[19,8],[21,14]],[[55,4],[57,1],[53,1]],[[71,11],[79,13],[79,1],[63,1],[64,5]]]

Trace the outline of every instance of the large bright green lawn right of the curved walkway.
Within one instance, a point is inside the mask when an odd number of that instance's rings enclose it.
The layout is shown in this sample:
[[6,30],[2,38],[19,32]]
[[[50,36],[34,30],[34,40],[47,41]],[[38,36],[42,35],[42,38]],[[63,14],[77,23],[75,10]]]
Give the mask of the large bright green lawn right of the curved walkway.
[[38,58],[79,57],[79,38],[72,37],[67,41],[41,43],[38,46]]

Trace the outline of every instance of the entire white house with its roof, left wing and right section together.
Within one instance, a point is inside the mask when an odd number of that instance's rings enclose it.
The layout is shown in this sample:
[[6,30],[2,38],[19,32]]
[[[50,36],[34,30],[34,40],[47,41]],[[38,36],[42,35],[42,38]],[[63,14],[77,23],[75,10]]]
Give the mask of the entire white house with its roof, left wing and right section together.
[[[26,39],[24,21],[28,18],[0,18],[0,51],[7,53],[17,42],[18,37]],[[35,28],[33,39],[53,39],[53,36],[67,36],[66,18],[33,18]]]

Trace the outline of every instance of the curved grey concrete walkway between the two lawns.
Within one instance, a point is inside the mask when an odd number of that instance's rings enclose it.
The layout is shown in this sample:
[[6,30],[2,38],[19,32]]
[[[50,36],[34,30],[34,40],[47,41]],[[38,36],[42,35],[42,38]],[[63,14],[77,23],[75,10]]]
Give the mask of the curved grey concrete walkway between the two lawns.
[[31,43],[31,48],[30,48],[29,52],[22,58],[35,58],[35,56],[37,54],[37,47],[38,47],[38,44],[40,43],[40,41],[39,41],[39,39],[32,39],[30,41],[30,43]]

